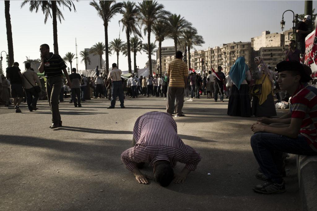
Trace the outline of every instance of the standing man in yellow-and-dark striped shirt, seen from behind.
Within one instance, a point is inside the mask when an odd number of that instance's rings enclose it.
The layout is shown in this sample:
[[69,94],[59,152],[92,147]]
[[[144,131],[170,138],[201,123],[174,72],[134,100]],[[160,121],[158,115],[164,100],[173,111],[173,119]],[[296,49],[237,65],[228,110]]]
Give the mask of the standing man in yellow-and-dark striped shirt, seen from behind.
[[184,88],[187,86],[188,67],[182,59],[183,53],[177,51],[176,59],[168,64],[167,69],[167,77],[170,82],[168,84],[166,112],[173,114],[176,98],[176,117],[184,116],[182,108],[184,105]]

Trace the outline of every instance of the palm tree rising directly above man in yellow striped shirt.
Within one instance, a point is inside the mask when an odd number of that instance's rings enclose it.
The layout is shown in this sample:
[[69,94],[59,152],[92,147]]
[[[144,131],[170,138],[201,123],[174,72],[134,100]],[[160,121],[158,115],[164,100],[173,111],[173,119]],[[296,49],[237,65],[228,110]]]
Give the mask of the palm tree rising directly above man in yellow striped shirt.
[[181,18],[181,16],[177,14],[169,15],[167,21],[169,24],[169,37],[174,40],[176,55],[177,40],[180,38],[180,35],[184,32],[184,30],[189,29],[191,27],[191,23],[186,21],[184,17]]

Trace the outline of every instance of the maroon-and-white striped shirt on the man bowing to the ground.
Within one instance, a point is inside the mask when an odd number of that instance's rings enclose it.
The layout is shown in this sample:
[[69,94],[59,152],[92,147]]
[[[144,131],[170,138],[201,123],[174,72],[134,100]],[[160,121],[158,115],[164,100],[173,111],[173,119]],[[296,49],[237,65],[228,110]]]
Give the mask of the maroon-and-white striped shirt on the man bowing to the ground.
[[177,135],[173,117],[165,112],[152,111],[140,116],[134,124],[135,146],[121,154],[126,168],[132,171],[136,163],[147,162],[150,166],[158,160],[185,163],[185,168],[194,171],[201,155],[184,144]]

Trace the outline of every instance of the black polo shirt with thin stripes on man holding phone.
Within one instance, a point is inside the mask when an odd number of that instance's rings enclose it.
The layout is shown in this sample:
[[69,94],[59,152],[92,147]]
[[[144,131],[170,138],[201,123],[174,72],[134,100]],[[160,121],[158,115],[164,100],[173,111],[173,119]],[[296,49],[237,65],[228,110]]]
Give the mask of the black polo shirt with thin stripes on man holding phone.
[[62,70],[67,67],[64,60],[58,54],[50,55],[52,56],[49,59],[44,60],[44,76],[47,78],[63,75]]

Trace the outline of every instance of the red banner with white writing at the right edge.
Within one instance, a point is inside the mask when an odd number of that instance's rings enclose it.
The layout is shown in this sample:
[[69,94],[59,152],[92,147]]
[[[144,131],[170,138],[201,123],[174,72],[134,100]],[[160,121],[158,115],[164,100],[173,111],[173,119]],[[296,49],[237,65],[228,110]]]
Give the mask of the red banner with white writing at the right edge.
[[312,69],[312,78],[317,77],[317,30],[305,38],[305,64]]

